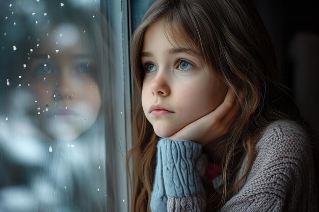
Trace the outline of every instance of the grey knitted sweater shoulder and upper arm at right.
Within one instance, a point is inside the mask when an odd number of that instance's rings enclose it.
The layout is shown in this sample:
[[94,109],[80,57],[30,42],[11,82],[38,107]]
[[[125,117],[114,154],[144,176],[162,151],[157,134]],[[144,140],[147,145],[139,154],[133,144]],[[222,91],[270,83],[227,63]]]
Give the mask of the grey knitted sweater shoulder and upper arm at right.
[[255,150],[244,185],[222,211],[315,211],[312,149],[302,127],[285,120],[271,123]]

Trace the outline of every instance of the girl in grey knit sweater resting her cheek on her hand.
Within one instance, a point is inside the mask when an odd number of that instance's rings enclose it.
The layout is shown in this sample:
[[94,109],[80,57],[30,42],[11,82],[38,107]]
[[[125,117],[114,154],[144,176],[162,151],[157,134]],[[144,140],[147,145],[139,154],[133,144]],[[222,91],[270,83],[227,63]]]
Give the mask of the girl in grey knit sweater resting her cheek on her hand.
[[317,210],[309,138],[247,1],[158,0],[131,64],[132,211]]

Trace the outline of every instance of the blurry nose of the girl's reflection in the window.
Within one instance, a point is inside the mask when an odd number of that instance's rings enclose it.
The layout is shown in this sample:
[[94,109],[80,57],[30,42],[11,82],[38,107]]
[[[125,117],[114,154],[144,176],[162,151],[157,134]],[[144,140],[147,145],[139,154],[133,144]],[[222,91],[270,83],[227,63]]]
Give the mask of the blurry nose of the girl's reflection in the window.
[[74,92],[72,76],[69,73],[59,73],[55,88],[56,96],[62,101],[69,100],[73,98]]

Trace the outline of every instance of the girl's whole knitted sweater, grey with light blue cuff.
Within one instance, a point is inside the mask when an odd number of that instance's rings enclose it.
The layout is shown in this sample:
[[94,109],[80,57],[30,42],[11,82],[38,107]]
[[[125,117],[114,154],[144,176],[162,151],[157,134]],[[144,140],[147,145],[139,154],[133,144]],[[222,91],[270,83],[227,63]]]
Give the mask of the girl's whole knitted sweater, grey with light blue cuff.
[[[160,139],[151,210],[206,211],[196,169],[201,145]],[[244,174],[247,157],[237,177]],[[264,130],[256,158],[240,191],[221,208],[226,211],[317,211],[312,149],[301,128],[280,120]]]

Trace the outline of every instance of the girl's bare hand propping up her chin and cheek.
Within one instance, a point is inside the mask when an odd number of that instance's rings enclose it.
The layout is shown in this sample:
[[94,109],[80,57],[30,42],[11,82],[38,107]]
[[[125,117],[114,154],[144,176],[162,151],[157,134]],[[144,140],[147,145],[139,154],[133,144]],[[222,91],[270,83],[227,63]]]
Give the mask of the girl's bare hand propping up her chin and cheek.
[[[240,94],[242,99],[243,94]],[[169,137],[172,140],[190,140],[206,145],[225,135],[239,111],[233,92],[228,88],[224,102],[214,111],[200,117]]]

